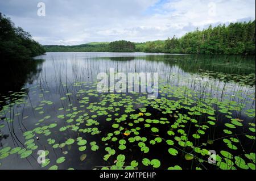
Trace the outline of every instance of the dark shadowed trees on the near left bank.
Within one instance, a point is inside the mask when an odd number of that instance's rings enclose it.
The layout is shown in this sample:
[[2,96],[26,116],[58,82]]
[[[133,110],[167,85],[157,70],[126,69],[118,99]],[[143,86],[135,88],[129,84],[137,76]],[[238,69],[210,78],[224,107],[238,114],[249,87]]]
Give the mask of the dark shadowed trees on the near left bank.
[[43,46],[32,39],[30,33],[15,27],[10,18],[0,12],[0,57],[2,61],[28,60],[43,54]]

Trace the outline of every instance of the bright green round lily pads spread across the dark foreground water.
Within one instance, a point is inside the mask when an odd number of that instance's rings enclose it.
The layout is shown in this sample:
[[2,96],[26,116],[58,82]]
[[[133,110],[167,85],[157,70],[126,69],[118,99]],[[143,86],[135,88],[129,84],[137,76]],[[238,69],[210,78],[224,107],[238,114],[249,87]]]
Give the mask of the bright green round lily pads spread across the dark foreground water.
[[[218,96],[214,85],[202,84],[210,92],[162,80],[158,98],[148,99],[99,93],[96,84],[74,82],[57,102],[39,86],[6,97],[0,136],[9,131],[9,138],[0,147],[0,169],[18,156],[43,169],[255,170],[250,88]],[[31,104],[31,95],[40,101]],[[45,151],[43,163],[36,162],[38,150]]]

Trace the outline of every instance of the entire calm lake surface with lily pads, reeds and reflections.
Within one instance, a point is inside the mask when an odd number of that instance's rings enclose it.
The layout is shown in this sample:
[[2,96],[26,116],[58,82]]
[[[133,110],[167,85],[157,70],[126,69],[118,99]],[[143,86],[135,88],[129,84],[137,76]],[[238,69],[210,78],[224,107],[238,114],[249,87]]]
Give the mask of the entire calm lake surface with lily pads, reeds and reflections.
[[[124,169],[131,161],[138,166],[126,169],[255,169],[255,57],[66,52],[35,59],[1,66],[0,169]],[[158,98],[99,93],[97,74],[110,68],[159,73]],[[49,151],[43,167],[38,150]],[[218,155],[214,164],[209,150]]]

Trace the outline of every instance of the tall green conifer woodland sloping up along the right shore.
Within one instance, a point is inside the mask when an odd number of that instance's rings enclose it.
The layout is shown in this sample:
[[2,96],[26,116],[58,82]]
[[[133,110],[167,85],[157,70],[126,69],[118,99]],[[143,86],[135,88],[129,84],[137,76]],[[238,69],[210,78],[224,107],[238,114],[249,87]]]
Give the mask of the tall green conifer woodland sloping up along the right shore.
[[189,54],[255,54],[255,20],[209,26],[206,30],[186,33],[180,39],[151,41],[140,45],[144,52]]

